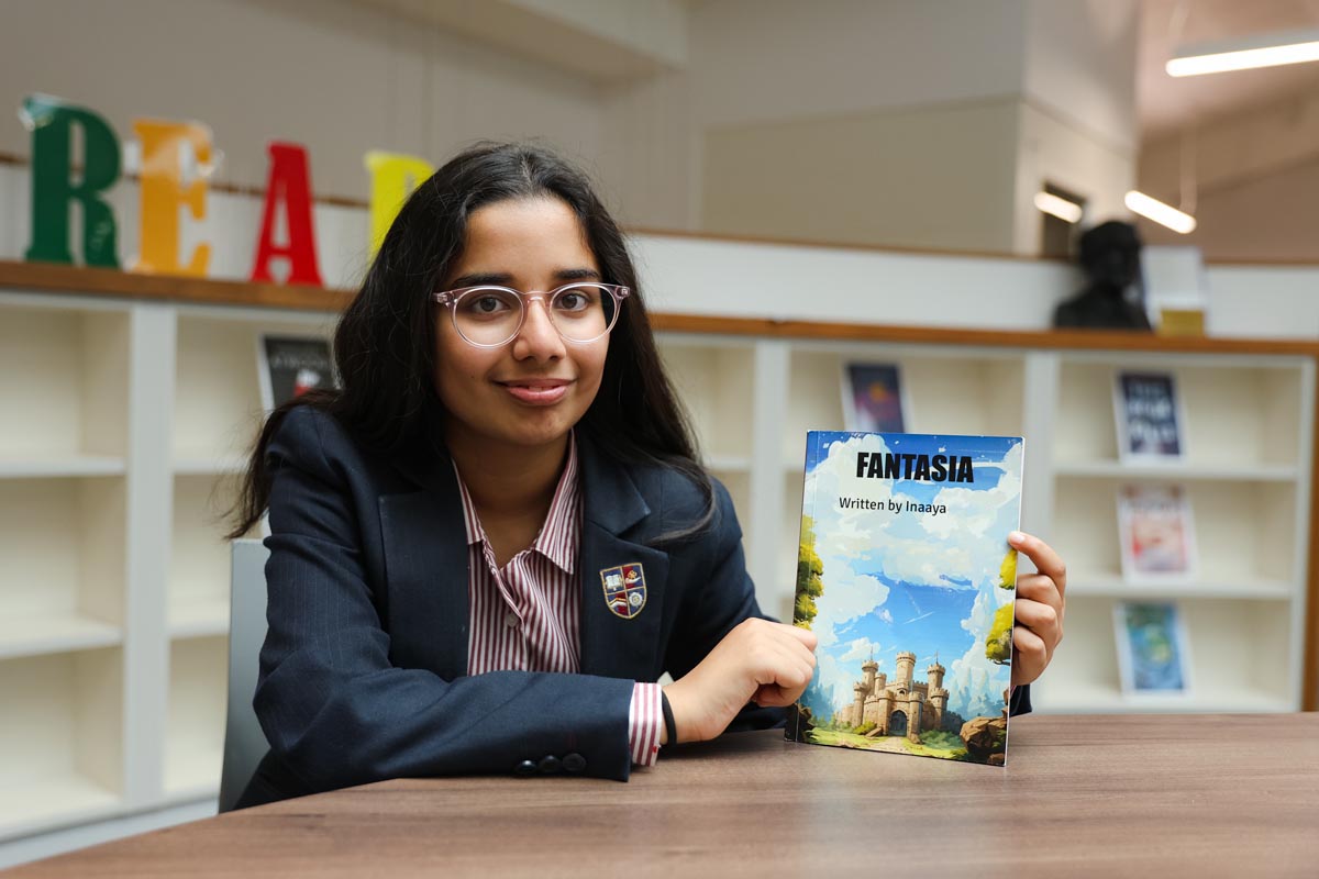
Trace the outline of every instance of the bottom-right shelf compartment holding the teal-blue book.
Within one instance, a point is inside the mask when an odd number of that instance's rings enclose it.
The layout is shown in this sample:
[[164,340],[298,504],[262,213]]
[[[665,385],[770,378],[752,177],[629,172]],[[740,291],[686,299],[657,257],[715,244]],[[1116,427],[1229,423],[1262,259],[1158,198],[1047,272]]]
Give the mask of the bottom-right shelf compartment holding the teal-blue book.
[[1274,712],[1297,710],[1298,692],[1289,663],[1290,614],[1275,601],[1182,598],[1190,689],[1186,693],[1121,692],[1116,600],[1072,594],[1067,601],[1067,637],[1053,663],[1031,685],[1042,713],[1107,712]]

